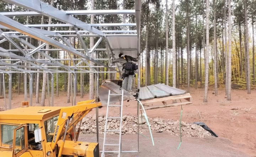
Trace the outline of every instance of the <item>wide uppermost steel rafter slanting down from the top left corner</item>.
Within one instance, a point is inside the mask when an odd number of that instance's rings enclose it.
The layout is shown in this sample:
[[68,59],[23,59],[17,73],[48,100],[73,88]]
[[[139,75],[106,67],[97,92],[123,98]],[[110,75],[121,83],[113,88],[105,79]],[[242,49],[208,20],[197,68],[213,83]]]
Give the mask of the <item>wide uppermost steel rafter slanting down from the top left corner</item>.
[[[86,24],[80,21],[79,19],[74,18],[73,16],[66,14],[65,12],[60,11],[57,8],[54,8],[40,0],[4,0],[4,1],[21,6],[23,8],[27,8],[28,10],[31,10],[31,11],[38,12],[44,16],[52,17],[59,21],[76,25],[80,29],[85,29],[92,33],[105,36],[105,34],[102,31],[94,27],[91,27],[89,24]],[[4,26],[7,27],[6,25]]]

